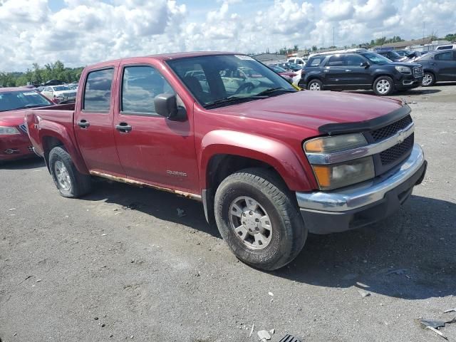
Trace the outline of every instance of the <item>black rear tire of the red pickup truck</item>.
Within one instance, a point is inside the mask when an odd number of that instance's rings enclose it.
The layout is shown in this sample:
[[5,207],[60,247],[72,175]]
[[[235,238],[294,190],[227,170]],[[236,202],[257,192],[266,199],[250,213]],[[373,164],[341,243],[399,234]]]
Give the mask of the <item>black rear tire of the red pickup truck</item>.
[[[68,187],[62,185],[62,182],[58,180],[57,172],[58,170],[61,170],[61,165],[65,167],[66,173],[68,174],[65,182],[65,184],[68,184]],[[52,179],[63,197],[81,197],[88,194],[92,189],[90,176],[83,175],[76,170],[73,160],[71,160],[71,156],[63,147],[54,147],[51,152],[49,152],[49,169],[51,170]]]

